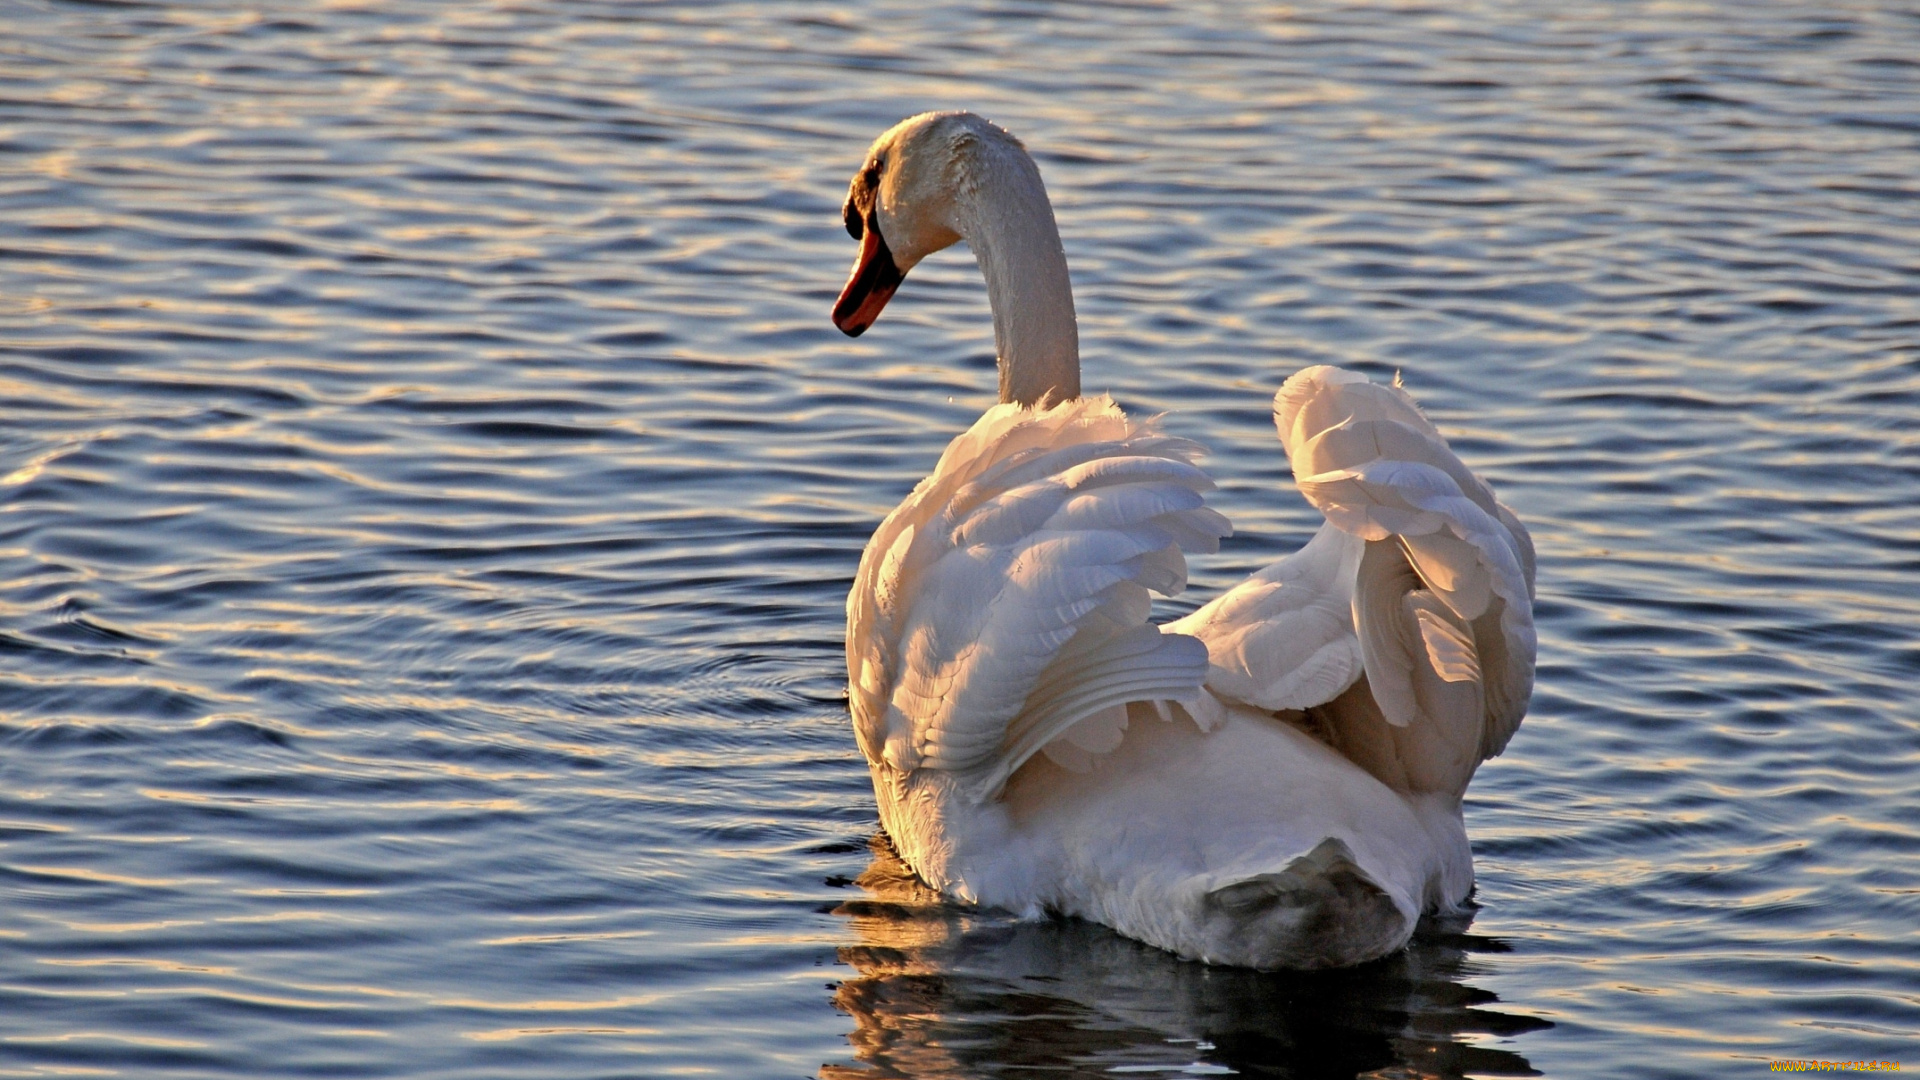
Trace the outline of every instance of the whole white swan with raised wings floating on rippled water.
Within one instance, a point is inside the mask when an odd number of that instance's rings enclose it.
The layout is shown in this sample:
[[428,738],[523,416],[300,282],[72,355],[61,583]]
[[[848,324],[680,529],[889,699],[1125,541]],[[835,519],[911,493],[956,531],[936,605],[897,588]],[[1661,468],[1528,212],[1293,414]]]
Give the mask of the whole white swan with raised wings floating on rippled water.
[[833,307],[864,332],[922,258],[987,277],[1000,404],[881,523],[847,598],[879,819],[933,888],[1058,911],[1212,963],[1402,947],[1473,888],[1461,794],[1532,692],[1526,528],[1396,386],[1336,367],[1275,396],[1327,525],[1192,615],[1183,552],[1231,532],[1200,448],[1079,396],[1039,169],[972,113],[900,121],[847,198]]

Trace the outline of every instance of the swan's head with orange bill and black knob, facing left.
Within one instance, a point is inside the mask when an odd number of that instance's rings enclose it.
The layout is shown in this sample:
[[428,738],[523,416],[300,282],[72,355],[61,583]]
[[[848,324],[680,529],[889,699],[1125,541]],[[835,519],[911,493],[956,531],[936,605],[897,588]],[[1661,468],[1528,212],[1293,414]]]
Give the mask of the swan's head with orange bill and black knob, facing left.
[[[920,113],[874,140],[847,188],[847,233],[860,240],[833,325],[860,336],[920,259],[960,240],[983,171],[1033,169],[1020,140],[973,113]],[[1035,169],[1035,183],[1039,173]]]

